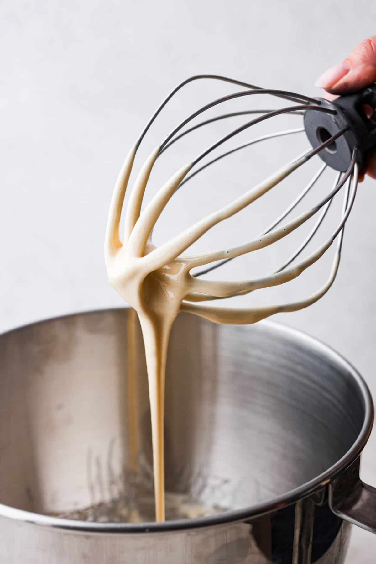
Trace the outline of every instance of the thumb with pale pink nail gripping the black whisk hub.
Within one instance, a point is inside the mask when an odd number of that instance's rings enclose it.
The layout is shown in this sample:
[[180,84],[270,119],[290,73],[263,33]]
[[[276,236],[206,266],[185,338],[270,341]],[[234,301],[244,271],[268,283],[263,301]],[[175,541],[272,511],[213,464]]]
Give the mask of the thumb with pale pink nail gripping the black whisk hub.
[[372,82],[376,82],[376,36],[364,39],[343,63],[326,70],[315,86],[331,94],[349,94]]

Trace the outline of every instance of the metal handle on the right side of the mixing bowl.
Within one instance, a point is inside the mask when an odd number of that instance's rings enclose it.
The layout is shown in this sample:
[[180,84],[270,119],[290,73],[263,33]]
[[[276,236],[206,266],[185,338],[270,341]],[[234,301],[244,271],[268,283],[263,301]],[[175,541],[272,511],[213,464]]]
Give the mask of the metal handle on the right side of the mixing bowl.
[[360,456],[329,484],[330,509],[346,521],[376,533],[376,488],[359,478]]

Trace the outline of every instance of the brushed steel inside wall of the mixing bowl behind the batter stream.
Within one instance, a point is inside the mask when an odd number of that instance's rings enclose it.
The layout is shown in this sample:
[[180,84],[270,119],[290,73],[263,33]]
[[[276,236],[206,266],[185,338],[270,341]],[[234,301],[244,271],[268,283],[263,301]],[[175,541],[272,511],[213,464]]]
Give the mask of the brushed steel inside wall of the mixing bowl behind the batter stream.
[[[131,310],[0,337],[0,503],[61,513],[151,487],[147,374]],[[182,314],[166,379],[166,488],[240,509],[335,464],[365,417],[346,363],[273,324]]]

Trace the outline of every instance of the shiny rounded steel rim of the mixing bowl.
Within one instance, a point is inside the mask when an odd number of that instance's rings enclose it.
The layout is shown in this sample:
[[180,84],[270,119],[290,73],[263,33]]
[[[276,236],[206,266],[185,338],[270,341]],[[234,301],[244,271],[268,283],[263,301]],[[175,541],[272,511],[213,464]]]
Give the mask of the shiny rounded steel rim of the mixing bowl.
[[[21,331],[23,329],[32,327],[33,325],[43,324],[48,321],[56,321],[59,319],[74,316],[86,316],[115,311],[127,311],[130,309],[131,307],[111,307],[98,310],[78,311],[70,314],[53,316],[51,318],[34,321],[33,323],[21,325],[19,327],[15,327],[13,329],[0,333],[0,339],[10,333]],[[360,373],[356,370],[356,368],[354,368],[353,365],[344,358],[344,356],[339,354],[339,352],[335,351],[329,345],[326,345],[316,337],[312,337],[306,332],[291,328],[276,321],[263,320],[258,324],[261,324],[263,327],[267,327],[268,331],[275,332],[280,336],[287,336],[290,338],[293,337],[294,340],[299,341],[303,346],[308,346],[310,349],[315,349],[316,351],[321,352],[322,355],[325,356],[325,358],[331,359],[337,365],[346,368],[346,370],[351,374],[353,380],[356,382],[358,389],[360,390],[365,409],[364,421],[360,433],[355,442],[352,444],[352,447],[337,462],[335,462],[334,465],[325,470],[325,472],[322,472],[309,482],[304,483],[302,486],[294,488],[293,490],[283,493],[282,495],[274,497],[273,499],[265,501],[263,503],[251,505],[242,509],[228,511],[215,516],[199,517],[197,519],[176,519],[175,521],[165,521],[162,523],[95,523],[88,521],[76,521],[73,519],[63,519],[59,517],[50,517],[49,515],[33,513],[24,509],[17,509],[1,503],[0,517],[16,519],[17,521],[33,523],[34,525],[42,525],[45,527],[60,528],[70,531],[95,532],[102,534],[136,534],[191,530],[192,528],[213,527],[236,521],[244,521],[246,519],[260,517],[260,515],[264,515],[270,512],[275,512],[278,509],[282,509],[288,505],[296,503],[300,499],[304,499],[304,497],[312,495],[312,493],[314,493],[315,491],[332,482],[335,478],[338,477],[338,475],[346,470],[353,461],[357,459],[370,437],[374,421],[374,405],[369,387],[366,384],[364,378],[362,378]],[[242,328],[247,331],[249,325],[242,325]]]

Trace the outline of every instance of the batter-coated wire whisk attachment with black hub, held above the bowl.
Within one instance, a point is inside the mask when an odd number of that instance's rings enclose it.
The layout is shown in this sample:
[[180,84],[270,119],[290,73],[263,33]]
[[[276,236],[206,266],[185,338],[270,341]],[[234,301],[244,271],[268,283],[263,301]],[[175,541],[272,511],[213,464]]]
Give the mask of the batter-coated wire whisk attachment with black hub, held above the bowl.
[[[132,165],[140,143],[145,134],[147,134],[149,127],[151,127],[156,117],[169,100],[171,100],[172,96],[188,83],[198,80],[224,81],[240,86],[244,90],[217,98],[213,100],[213,102],[204,105],[204,107],[197,109],[197,111],[193,112],[176,126],[175,129],[167,135],[165,140],[154,149],[141,168],[131,192],[126,210],[123,243],[121,243],[119,231],[121,210]],[[219,106],[224,102],[236,98],[242,98],[244,96],[254,98],[261,94],[277,96],[280,99],[286,100],[289,105],[273,110],[251,109],[249,111],[225,113],[191,125],[192,120],[210,108],[214,108],[217,105]],[[155,314],[163,309],[163,301],[167,299],[164,297],[165,288],[163,285],[167,284],[169,290],[173,291],[175,297],[178,298],[177,302],[179,302],[179,304],[177,307],[179,307],[180,311],[188,311],[218,323],[255,323],[255,321],[259,321],[277,312],[297,311],[316,302],[328,291],[337,275],[344,225],[350,215],[355,200],[359,170],[364,163],[366,152],[376,144],[376,120],[374,120],[373,117],[368,117],[369,111],[365,111],[366,106],[371,106],[373,109],[376,108],[375,85],[369,86],[356,94],[341,96],[334,102],[329,102],[322,98],[310,98],[309,96],[297,94],[296,92],[262,89],[246,82],[212,74],[193,76],[180,83],[167,96],[153,114],[151,120],[149,120],[147,126],[127,156],[116,183],[110,205],[105,239],[105,257],[108,275],[114,287],[121,295],[124,294],[124,296],[126,296],[127,301],[131,303],[139,314],[148,315],[148,311],[153,311]],[[216,156],[208,162],[204,161],[211,152],[242,131],[260,122],[271,120],[273,117],[286,113],[303,117],[303,127],[259,136],[248,143],[232,148],[222,155]],[[255,117],[247,120],[246,118],[252,114],[254,114]],[[244,116],[244,124],[223,136],[223,138],[219,139],[198,155],[191,163],[183,166],[182,169],[172,175],[165,186],[157,192],[156,196],[154,196],[152,201],[141,212],[145,188],[157,158],[165,153],[172,144],[192,131],[215,121],[230,120],[235,116]],[[282,168],[269,175],[268,178],[260,182],[254,188],[251,188],[251,190],[247,191],[244,195],[233,200],[216,213],[201,219],[187,230],[173,237],[170,241],[167,241],[157,248],[152,244],[151,235],[158,217],[174,192],[187,183],[188,180],[192,179],[208,166],[213,165],[220,159],[242,148],[263,142],[267,139],[294,135],[303,131],[306,131],[309,142],[312,145],[309,151],[304,152],[303,155],[295,158],[287,165],[282,166]],[[204,233],[210,230],[210,228],[250,205],[315,155],[319,155],[321,160],[324,161],[320,169],[308,182],[307,186],[304,187],[304,190],[298,197],[291,202],[284,213],[254,240],[234,248],[204,253],[193,257],[182,254],[189,246],[204,235]],[[199,164],[201,165],[198,166]],[[317,204],[308,211],[283,223],[287,215],[302,201],[328,166],[338,173],[328,195],[317,202]],[[343,209],[337,228],[335,228],[329,239],[321,244],[314,252],[300,262],[295,263],[295,259],[299,257],[309,241],[312,240],[317,230],[319,230],[326,213],[328,213],[333,197],[342,187],[345,187]],[[202,275],[213,271],[215,268],[219,268],[236,257],[275,243],[275,241],[295,231],[316,214],[318,214],[318,219],[306,239],[304,239],[293,255],[278,268],[277,271],[272,272],[271,275],[256,280],[242,281],[201,279]],[[253,292],[255,289],[272,287],[293,280],[309,266],[318,261],[334,243],[335,239],[337,239],[337,251],[335,252],[329,279],[317,292],[306,299],[293,303],[241,310],[228,307],[213,307],[213,305],[198,303],[239,296]],[[197,267],[204,268],[192,275],[191,270]],[[161,293],[157,301],[154,301],[155,303],[147,289],[148,277],[151,274],[153,274],[154,280],[159,280],[161,284]],[[131,294],[129,291],[130,287],[134,288]],[[126,292],[125,288],[127,288]],[[174,312],[174,314],[176,313],[177,312]]]

